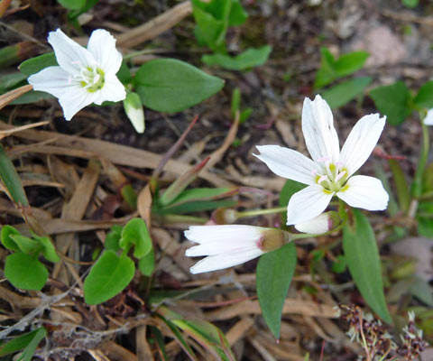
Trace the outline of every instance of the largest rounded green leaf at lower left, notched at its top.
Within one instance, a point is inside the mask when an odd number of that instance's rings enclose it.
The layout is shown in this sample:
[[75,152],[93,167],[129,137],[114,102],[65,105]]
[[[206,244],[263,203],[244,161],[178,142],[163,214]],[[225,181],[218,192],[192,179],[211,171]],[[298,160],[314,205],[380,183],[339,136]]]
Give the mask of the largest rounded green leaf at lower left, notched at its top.
[[88,304],[108,301],[124,290],[134,278],[134,273],[135,265],[131,258],[106,251],[84,281],[84,300]]

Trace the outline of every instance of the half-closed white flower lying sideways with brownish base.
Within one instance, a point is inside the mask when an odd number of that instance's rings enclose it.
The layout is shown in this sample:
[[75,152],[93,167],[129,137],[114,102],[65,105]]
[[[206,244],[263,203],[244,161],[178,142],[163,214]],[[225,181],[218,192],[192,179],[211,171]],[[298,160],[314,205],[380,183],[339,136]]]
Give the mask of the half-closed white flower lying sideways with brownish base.
[[290,241],[290,235],[281,229],[243,225],[191,226],[185,236],[199,244],[187,249],[185,255],[207,255],[191,267],[191,273],[244,264]]

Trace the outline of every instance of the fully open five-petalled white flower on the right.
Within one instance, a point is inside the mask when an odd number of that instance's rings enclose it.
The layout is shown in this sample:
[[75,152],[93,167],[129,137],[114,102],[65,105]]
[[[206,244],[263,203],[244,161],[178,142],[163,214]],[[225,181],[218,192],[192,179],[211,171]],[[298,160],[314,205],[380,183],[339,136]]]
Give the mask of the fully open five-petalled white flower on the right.
[[302,133],[310,160],[305,155],[278,145],[257,146],[254,154],[281,177],[307,184],[289,201],[287,224],[294,225],[317,217],[334,195],[351,207],[382,210],[388,193],[381,180],[355,175],[373,152],[382,134],[386,117],[363,116],[354,126],[341,149],[327,102],[320,96],[306,98],[302,108]]

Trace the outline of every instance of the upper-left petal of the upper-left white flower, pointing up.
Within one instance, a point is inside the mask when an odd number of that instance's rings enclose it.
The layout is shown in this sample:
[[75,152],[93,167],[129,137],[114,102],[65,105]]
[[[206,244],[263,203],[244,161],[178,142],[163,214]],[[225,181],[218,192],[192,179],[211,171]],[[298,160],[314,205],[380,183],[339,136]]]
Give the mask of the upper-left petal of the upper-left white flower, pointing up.
[[91,52],[74,42],[60,29],[50,32],[48,42],[54,49],[60,67],[69,74],[78,74],[83,68],[93,68],[96,65]]

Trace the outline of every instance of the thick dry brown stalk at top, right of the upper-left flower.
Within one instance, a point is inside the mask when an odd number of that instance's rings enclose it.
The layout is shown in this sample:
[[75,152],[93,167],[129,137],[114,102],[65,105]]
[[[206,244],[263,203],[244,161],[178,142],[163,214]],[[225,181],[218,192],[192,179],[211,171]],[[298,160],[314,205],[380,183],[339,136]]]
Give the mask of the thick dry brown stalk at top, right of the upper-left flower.
[[117,45],[134,48],[134,46],[158,36],[161,32],[169,30],[191,12],[192,6],[189,1],[176,5],[149,22],[117,36]]

